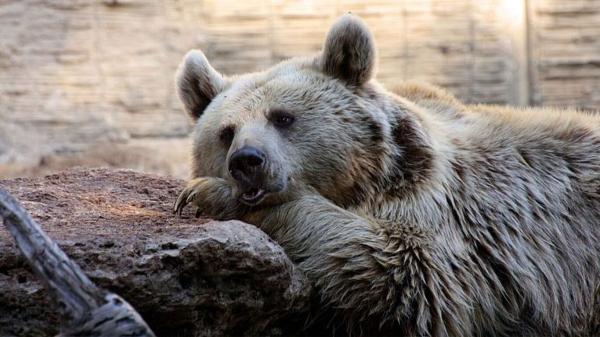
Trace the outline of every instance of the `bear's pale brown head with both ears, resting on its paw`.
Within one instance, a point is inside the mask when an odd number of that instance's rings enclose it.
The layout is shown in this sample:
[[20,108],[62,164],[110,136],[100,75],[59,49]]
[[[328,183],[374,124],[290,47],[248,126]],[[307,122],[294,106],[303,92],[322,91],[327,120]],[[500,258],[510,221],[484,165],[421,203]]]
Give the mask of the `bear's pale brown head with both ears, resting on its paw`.
[[193,176],[235,182],[250,206],[280,202],[296,187],[356,195],[357,177],[382,167],[388,151],[387,116],[368,97],[374,68],[373,38],[350,15],[321,54],[265,72],[227,78],[202,52],[189,52],[177,84],[196,123]]

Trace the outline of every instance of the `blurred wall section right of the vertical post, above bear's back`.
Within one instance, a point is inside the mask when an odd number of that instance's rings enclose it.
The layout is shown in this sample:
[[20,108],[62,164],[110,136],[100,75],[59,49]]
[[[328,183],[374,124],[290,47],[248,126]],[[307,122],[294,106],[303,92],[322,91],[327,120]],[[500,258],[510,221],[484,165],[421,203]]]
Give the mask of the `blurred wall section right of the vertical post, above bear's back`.
[[600,1],[529,0],[531,102],[600,108]]

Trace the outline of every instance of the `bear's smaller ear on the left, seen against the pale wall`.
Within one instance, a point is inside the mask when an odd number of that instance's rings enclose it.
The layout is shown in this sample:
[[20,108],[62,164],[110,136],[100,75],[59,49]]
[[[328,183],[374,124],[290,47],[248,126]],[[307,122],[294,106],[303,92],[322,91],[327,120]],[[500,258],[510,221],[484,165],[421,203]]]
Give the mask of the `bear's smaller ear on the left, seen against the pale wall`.
[[187,113],[197,120],[213,98],[225,88],[225,79],[199,50],[189,51],[175,76],[177,93]]

